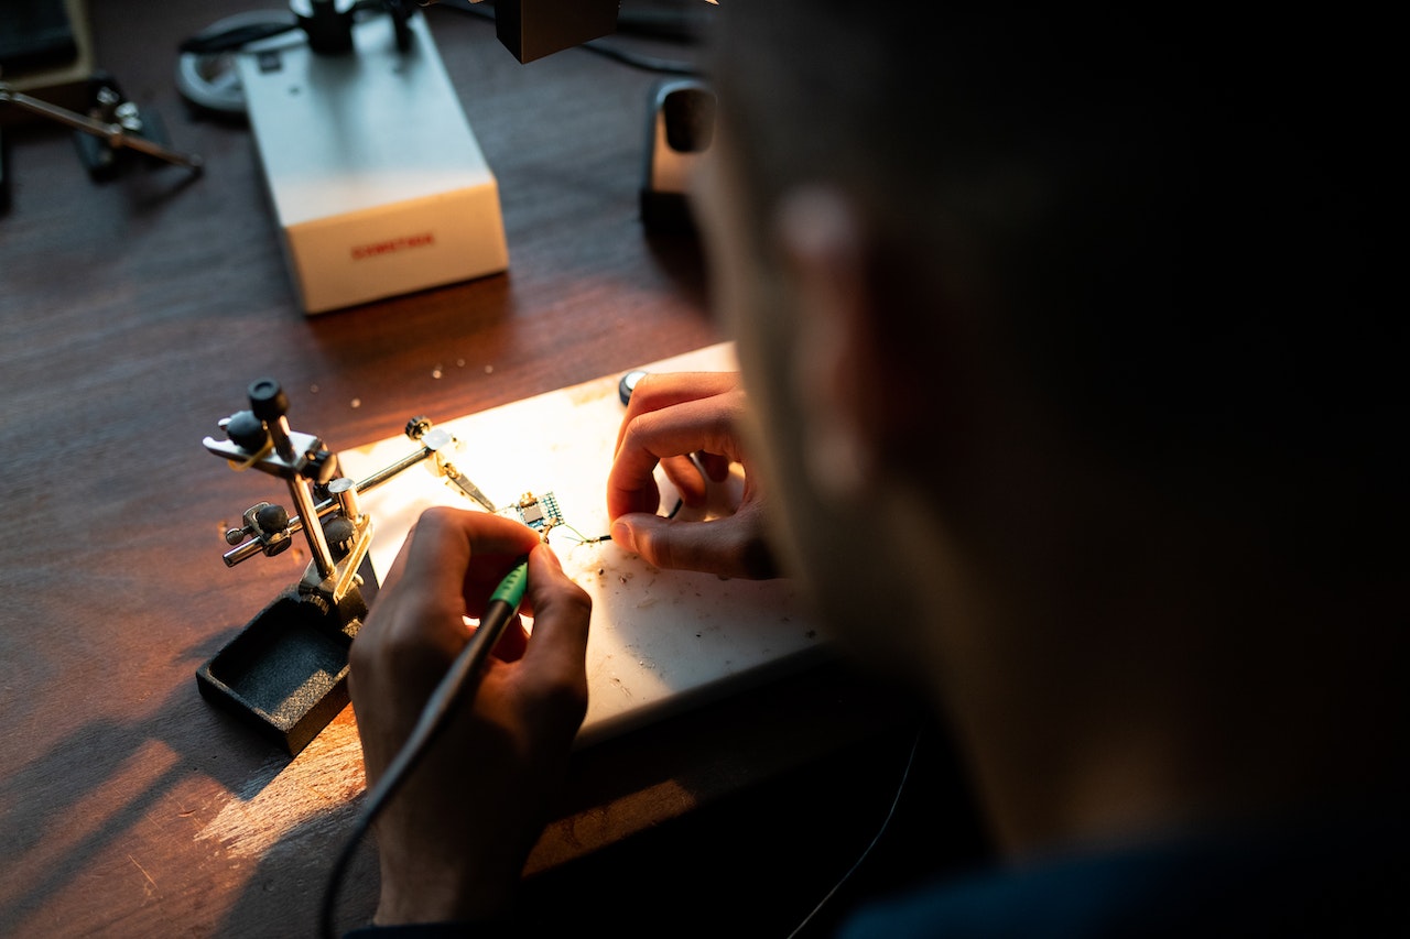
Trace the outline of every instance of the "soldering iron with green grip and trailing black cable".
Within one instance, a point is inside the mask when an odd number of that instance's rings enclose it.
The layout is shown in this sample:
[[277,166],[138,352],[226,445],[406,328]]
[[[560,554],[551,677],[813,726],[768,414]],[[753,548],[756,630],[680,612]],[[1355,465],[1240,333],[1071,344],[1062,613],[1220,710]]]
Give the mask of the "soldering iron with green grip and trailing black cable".
[[485,606],[485,615],[479,618],[479,626],[471,634],[465,647],[460,650],[460,654],[455,656],[446,677],[441,678],[431,696],[426,701],[426,706],[422,708],[422,716],[417,719],[406,743],[402,744],[396,757],[386,767],[386,771],[382,773],[382,778],[368,791],[352,833],[338,853],[333,864],[333,871],[329,876],[329,884],[323,892],[323,908],[319,922],[320,932],[327,939],[337,936],[333,915],[337,905],[338,888],[341,887],[347,866],[352,861],[352,854],[357,852],[362,837],[372,828],[372,822],[378,814],[381,814],[386,802],[402,787],[402,782],[406,781],[406,777],[416,764],[420,763],[430,743],[444,729],[457,704],[465,695],[474,695],[479,684],[479,677],[484,674],[484,664],[489,657],[489,651],[519,612],[519,603],[523,601],[527,582],[529,560],[523,558],[505,575],[499,587],[495,588],[495,592],[489,595],[489,603]]

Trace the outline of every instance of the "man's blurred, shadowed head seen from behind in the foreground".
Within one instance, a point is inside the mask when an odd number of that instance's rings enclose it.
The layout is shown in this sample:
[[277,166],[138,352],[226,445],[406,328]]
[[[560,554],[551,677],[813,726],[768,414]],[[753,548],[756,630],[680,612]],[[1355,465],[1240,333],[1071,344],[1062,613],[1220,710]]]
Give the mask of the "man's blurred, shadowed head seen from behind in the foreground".
[[1018,6],[721,11],[701,210],[785,554],[946,695],[1213,713],[1218,657],[1306,677],[1270,640],[1314,608],[1386,634],[1385,66],[1361,23]]

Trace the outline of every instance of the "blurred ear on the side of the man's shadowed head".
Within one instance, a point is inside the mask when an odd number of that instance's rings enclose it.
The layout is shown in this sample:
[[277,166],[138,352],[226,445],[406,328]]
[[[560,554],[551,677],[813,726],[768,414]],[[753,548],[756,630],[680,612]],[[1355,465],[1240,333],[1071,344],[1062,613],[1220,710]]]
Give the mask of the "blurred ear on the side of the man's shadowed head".
[[777,235],[795,293],[790,350],[799,438],[808,475],[823,496],[859,499],[884,472],[888,424],[887,343],[876,334],[871,251],[854,209],[839,193],[807,189],[784,200]]

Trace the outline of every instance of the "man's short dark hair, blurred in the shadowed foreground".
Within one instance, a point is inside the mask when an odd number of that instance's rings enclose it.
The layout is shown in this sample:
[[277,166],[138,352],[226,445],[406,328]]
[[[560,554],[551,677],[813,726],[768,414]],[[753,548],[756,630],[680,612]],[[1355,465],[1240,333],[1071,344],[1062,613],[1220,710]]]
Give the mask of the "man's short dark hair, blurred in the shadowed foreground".
[[728,0],[711,78],[756,221],[839,186],[1115,458],[1383,512],[1393,59],[1341,10],[1129,6]]

